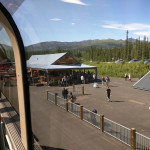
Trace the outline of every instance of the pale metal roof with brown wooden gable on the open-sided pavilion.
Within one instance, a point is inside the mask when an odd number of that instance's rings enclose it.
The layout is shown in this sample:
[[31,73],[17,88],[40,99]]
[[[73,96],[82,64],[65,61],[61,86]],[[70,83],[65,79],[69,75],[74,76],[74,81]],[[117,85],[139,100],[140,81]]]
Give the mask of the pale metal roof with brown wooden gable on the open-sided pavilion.
[[68,53],[32,55],[30,59],[27,60],[27,67],[43,70],[97,69],[95,66],[81,64]]

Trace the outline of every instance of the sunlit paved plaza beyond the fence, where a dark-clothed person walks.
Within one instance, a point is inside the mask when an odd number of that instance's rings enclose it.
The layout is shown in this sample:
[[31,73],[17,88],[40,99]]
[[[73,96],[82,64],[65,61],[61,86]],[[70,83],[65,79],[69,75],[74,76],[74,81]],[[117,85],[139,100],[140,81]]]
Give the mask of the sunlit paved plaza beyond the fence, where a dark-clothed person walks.
[[77,102],[84,107],[96,108],[98,114],[120,123],[128,128],[136,128],[137,132],[150,137],[150,92],[134,89],[132,82],[124,79],[111,78],[111,101],[106,98],[106,86],[85,85],[85,96],[80,96]]

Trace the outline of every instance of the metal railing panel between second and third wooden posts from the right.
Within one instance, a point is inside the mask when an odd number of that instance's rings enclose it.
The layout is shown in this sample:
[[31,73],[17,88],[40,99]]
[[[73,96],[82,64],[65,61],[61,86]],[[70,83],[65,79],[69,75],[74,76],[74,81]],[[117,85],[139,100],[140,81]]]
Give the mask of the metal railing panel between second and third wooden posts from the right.
[[100,115],[83,108],[83,120],[100,129]]

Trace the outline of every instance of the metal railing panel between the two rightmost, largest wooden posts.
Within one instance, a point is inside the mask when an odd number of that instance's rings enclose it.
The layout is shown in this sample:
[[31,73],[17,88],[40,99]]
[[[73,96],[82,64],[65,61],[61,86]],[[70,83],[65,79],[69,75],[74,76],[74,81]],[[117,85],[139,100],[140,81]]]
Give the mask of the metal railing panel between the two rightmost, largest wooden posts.
[[104,132],[129,146],[131,145],[131,130],[106,117],[104,117]]

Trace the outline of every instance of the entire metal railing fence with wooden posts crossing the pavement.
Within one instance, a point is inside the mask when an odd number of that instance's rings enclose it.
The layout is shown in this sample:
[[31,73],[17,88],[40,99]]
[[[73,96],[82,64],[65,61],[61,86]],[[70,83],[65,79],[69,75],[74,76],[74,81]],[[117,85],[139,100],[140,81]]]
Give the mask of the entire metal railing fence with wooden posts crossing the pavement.
[[104,115],[98,115],[83,108],[80,104],[68,102],[68,100],[64,100],[57,94],[47,92],[47,100],[130,146],[132,150],[150,150],[150,138],[136,132],[134,128],[129,129],[122,126],[104,117]]

